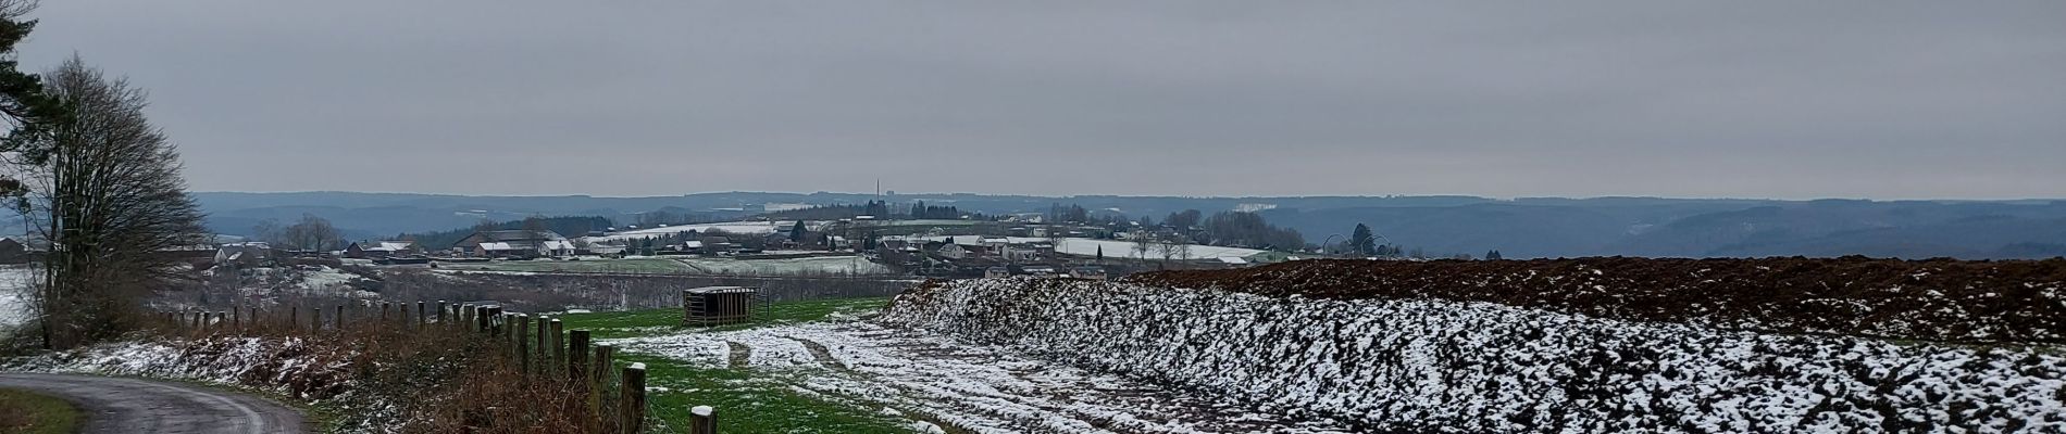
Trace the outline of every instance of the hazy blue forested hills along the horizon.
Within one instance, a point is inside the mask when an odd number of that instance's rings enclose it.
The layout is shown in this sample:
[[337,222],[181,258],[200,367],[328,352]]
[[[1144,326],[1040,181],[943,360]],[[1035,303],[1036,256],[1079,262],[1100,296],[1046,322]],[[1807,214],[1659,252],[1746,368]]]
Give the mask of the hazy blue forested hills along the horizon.
[[[667,197],[417,195],[417,193],[196,193],[209,226],[248,234],[252,224],[302,214],[333,220],[347,237],[471,228],[481,220],[601,216],[620,224],[665,210],[671,218],[731,220],[797,206],[855,206],[872,193],[692,193]],[[1310,243],[1370,224],[1380,237],[1428,253],[1504,257],[2054,257],[2066,255],[2066,202],[1861,202],[1861,200],[1661,200],[1661,197],[1128,197],[1128,195],[882,195],[893,206],[926,202],[963,212],[1045,212],[1076,204],[1097,214],[1161,216],[1182,210],[1248,210],[1297,228]]]

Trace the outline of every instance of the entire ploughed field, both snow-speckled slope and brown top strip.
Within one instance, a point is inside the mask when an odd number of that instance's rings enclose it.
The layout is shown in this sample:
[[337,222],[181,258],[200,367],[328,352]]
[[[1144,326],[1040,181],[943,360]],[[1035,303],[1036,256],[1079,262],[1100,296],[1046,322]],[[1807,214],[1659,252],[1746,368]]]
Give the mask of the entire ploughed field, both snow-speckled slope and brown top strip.
[[1293,261],[932,282],[880,325],[1357,432],[2066,432],[2066,261]]

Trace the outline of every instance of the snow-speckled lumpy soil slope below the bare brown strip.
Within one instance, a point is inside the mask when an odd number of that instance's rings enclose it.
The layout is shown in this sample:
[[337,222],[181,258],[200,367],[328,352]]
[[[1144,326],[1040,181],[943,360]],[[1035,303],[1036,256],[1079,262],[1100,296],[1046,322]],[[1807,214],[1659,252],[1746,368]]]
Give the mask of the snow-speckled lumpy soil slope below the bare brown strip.
[[1357,430],[2066,432],[2060,348],[1058,280],[919,288],[880,321]]

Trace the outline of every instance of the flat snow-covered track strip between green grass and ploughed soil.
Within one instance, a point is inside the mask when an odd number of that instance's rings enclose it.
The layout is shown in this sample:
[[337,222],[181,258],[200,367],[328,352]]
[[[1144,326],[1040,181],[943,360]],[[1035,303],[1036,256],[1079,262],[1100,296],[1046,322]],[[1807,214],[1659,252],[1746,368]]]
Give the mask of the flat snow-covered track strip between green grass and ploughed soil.
[[882,409],[921,432],[1349,432],[1254,411],[1112,374],[1041,362],[996,346],[868,321],[605,339],[713,368],[754,368],[791,391]]

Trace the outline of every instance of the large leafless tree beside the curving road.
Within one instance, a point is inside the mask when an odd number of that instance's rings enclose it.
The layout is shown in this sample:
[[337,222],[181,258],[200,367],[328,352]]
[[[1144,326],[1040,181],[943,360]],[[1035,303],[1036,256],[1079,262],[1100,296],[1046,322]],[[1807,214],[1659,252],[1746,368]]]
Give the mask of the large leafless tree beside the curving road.
[[138,298],[178,280],[159,251],[202,241],[200,210],[180,179],[180,154],[145,119],[145,93],[72,58],[45,74],[64,121],[21,148],[23,200],[50,257],[43,263],[43,346],[70,348],[138,325]]

